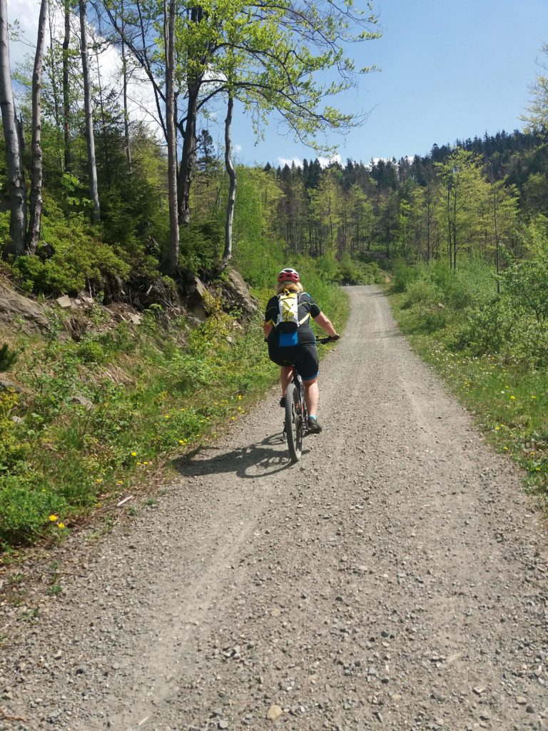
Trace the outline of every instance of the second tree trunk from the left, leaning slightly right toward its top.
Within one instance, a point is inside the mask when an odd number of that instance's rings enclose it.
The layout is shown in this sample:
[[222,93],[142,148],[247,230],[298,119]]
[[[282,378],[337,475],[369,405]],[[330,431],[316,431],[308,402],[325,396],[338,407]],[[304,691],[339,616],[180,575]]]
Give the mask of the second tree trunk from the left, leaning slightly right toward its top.
[[37,250],[42,221],[42,114],[40,92],[42,90],[42,63],[44,61],[44,37],[47,15],[47,0],[40,4],[38,36],[34,69],[32,72],[32,143],[31,143],[31,205],[28,221],[26,248],[29,254]]

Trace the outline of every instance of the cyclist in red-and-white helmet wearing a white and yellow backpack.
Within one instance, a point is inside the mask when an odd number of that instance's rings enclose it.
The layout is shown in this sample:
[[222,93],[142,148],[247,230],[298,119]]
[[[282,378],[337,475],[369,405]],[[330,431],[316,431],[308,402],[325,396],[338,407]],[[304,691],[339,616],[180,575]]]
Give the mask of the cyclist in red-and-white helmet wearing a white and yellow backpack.
[[[311,295],[304,292],[299,273],[292,269],[282,269],[278,274],[276,294],[268,300],[265,311],[265,338],[268,343],[268,357],[278,366],[281,366],[281,399],[280,406],[286,405],[286,390],[292,381],[294,363],[302,378],[305,387],[306,409],[308,411],[308,431],[319,433],[321,425],[318,422],[318,353],[316,351],[316,336],[310,325],[310,318],[317,322],[327,335],[338,340],[339,336]],[[294,330],[283,332],[276,327],[283,322],[281,317],[281,298],[290,293],[297,293],[295,306],[296,324]],[[288,298],[289,299],[289,298]]]

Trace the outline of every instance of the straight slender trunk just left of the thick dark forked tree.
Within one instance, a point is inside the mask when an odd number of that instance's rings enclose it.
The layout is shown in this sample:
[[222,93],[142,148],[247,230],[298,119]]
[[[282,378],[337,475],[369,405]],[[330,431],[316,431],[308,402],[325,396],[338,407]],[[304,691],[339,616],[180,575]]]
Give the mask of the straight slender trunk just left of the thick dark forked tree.
[[164,0],[164,45],[166,58],[166,131],[167,131],[167,190],[170,200],[170,243],[161,265],[165,273],[172,272],[179,262],[179,220],[177,204],[177,137],[175,130],[175,12],[176,0]]

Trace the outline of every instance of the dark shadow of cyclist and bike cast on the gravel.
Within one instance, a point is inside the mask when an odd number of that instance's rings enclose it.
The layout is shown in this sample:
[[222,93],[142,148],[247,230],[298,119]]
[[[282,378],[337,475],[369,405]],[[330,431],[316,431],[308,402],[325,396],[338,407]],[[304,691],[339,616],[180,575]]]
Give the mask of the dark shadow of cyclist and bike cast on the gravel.
[[[288,469],[294,464],[285,449],[283,451],[272,449],[283,444],[285,441],[281,434],[272,434],[258,444],[248,444],[230,452],[221,451],[220,454],[210,457],[205,457],[205,453],[218,452],[219,447],[203,445],[175,460],[175,468],[186,477],[234,472],[238,477],[257,480]],[[303,455],[306,451],[308,450],[303,450]]]

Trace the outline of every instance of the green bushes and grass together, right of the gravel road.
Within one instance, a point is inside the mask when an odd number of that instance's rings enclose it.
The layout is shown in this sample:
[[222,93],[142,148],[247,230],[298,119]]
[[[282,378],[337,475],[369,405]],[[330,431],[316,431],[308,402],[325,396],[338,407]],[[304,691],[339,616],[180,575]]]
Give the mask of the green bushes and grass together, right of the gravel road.
[[457,273],[441,262],[411,271],[401,262],[403,292],[393,301],[421,355],[525,468],[530,484],[548,491],[547,271],[544,241],[535,241],[536,258],[504,271],[500,296],[494,273],[480,261]]

